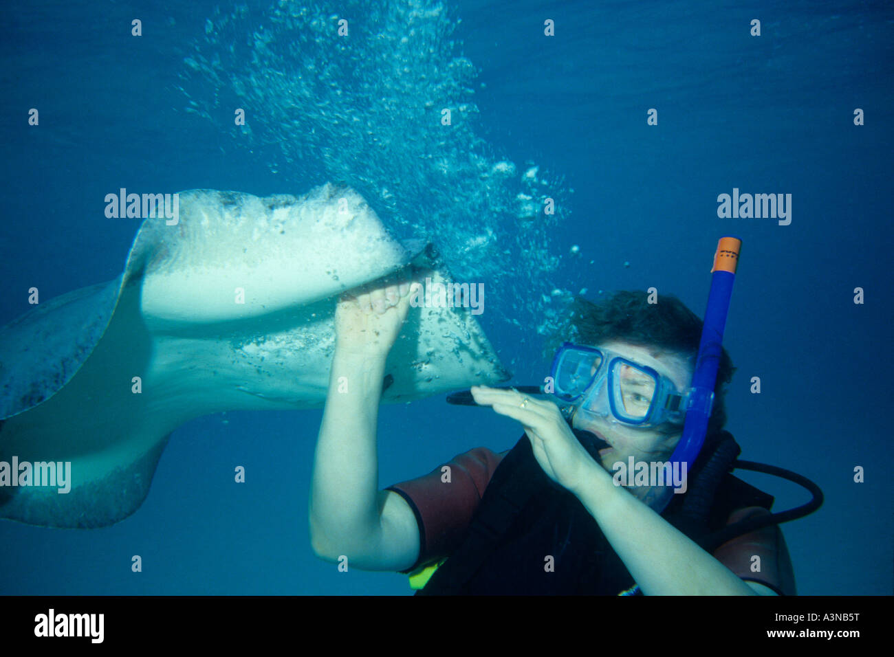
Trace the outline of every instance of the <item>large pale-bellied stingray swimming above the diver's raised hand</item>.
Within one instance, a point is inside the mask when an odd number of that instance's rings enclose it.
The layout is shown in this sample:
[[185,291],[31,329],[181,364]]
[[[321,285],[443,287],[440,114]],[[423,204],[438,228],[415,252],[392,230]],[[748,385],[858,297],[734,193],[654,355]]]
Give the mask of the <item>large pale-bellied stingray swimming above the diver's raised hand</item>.
[[[71,463],[68,493],[0,485],[0,518],[55,527],[126,518],[190,419],[323,406],[342,292],[399,271],[451,281],[432,245],[394,239],[349,188],[179,199],[177,223],[144,220],[114,281],[0,329],[0,467]],[[410,307],[383,401],[509,376],[468,308]]]

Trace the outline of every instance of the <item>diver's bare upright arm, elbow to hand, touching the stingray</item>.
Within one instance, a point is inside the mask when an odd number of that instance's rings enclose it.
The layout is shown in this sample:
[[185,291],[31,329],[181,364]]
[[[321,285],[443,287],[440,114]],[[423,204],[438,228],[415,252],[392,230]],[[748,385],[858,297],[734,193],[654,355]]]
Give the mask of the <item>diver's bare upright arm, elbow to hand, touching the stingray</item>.
[[409,298],[409,285],[392,285],[343,299],[336,309],[335,354],[310,484],[310,542],[322,559],[343,555],[358,569],[408,569],[419,553],[409,504],[378,490],[375,444],[385,359]]

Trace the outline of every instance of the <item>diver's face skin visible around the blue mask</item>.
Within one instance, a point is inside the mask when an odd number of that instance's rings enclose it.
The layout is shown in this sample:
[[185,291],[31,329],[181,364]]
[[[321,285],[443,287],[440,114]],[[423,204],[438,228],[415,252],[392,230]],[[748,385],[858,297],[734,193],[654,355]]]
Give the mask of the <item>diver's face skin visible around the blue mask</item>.
[[[623,358],[635,363],[651,367],[664,375],[677,387],[677,392],[687,390],[692,379],[692,364],[677,352],[659,351],[649,347],[623,341],[609,341],[598,345],[599,348],[611,350]],[[595,374],[595,370],[594,370]],[[632,370],[620,370],[619,377],[629,377],[631,389],[637,384]],[[600,382],[593,384],[600,385]],[[603,391],[605,385],[603,383]],[[604,392],[603,392],[604,394]],[[683,425],[662,425],[643,428],[620,422],[613,417],[607,406],[603,412],[581,412],[576,410],[572,417],[575,429],[594,434],[608,443],[608,447],[599,451],[603,467],[614,472],[614,464],[618,461],[628,464],[629,457],[635,461],[666,461],[671,457],[674,447],[683,433]]]

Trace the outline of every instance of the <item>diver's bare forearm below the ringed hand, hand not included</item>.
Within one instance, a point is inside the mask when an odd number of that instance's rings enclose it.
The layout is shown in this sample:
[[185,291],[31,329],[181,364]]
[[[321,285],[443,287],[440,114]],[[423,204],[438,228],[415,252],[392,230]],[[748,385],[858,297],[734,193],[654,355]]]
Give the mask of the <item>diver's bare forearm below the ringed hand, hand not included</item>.
[[571,490],[646,595],[760,595],[772,590],[739,579],[720,561],[611,480],[589,459]]

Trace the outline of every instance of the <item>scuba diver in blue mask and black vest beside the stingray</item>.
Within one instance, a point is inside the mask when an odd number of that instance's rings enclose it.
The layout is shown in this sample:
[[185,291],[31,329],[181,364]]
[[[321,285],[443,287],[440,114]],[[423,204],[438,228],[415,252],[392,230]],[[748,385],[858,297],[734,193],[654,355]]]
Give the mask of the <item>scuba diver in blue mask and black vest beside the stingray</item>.
[[702,321],[672,296],[576,298],[550,394],[467,393],[519,422],[514,448],[473,449],[378,490],[384,364],[418,284],[339,300],[310,491],[317,556],[411,574],[417,594],[797,593],[772,496],[730,475],[739,448],[723,430],[734,369],[725,350],[686,492],[638,478],[618,485],[611,474],[619,463],[669,462],[683,434]]

